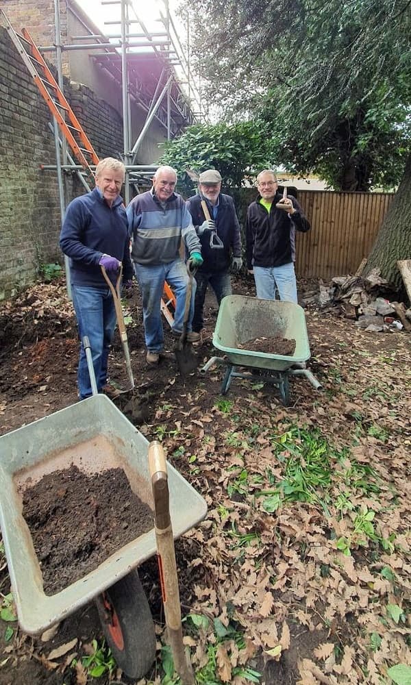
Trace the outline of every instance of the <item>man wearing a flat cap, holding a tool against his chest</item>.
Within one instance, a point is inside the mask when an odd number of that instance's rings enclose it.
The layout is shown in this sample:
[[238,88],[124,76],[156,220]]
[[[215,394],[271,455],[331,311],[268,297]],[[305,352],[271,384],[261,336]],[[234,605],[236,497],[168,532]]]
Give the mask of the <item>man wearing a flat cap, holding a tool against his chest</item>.
[[220,305],[223,297],[232,294],[230,270],[236,273],[242,267],[240,225],[236,208],[232,197],[221,192],[221,180],[221,174],[216,169],[201,172],[199,192],[187,201],[192,223],[201,242],[203,258],[203,264],[195,273],[197,290],[192,330],[197,333],[204,326],[203,308],[208,285],[214,290]]

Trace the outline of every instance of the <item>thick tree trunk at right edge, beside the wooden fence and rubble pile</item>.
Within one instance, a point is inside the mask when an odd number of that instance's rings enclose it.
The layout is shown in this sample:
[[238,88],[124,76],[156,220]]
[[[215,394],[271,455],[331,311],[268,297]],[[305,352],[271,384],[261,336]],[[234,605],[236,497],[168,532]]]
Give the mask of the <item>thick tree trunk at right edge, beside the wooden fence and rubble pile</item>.
[[364,269],[381,269],[381,275],[395,290],[403,287],[397,260],[411,259],[411,155],[399,188],[390,204]]

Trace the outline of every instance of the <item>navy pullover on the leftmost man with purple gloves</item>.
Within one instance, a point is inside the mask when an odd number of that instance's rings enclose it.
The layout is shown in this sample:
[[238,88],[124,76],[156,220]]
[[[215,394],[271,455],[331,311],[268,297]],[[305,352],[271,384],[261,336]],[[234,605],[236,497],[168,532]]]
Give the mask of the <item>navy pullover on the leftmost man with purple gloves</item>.
[[[70,278],[75,286],[105,286],[99,261],[103,254],[123,262],[123,279],[132,279],[134,269],[129,251],[127,215],[123,199],[111,208],[98,188],[75,197],[67,207],[60,247],[70,257]],[[116,273],[108,271],[112,282]]]

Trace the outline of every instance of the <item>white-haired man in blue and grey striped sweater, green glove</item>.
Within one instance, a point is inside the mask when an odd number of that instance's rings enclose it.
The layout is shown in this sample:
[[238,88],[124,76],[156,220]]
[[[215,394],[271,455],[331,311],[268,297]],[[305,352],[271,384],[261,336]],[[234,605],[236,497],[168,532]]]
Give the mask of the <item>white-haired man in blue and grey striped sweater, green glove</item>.
[[[142,297],[149,364],[158,364],[164,347],[160,301],[165,280],[175,292],[173,334],[177,337],[182,334],[188,286],[186,264],[179,253],[182,239],[193,266],[203,263],[201,244],[192,225],[190,212],[181,195],[174,192],[176,184],[175,169],[171,166],[159,166],[154,174],[151,190],[134,197],[127,207],[129,230],[133,238],[132,260]],[[191,298],[187,335],[187,340],[192,343],[199,340],[199,334],[191,329],[193,314],[194,297]]]

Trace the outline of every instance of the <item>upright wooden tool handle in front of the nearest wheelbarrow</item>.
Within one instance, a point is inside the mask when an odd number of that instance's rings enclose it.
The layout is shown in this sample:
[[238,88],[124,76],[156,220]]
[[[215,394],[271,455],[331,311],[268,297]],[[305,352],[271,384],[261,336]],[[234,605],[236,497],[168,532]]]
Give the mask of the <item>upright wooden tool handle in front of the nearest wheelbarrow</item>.
[[194,673],[191,664],[186,660],[183,643],[182,610],[169,509],[167,464],[162,445],[158,440],[153,440],[149,444],[149,471],[154,499],[155,541],[167,636],[173,653],[174,667],[182,685],[194,685]]

